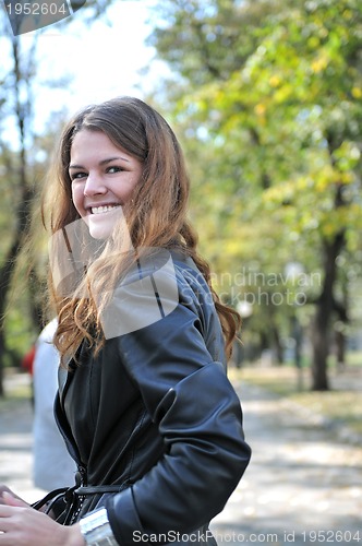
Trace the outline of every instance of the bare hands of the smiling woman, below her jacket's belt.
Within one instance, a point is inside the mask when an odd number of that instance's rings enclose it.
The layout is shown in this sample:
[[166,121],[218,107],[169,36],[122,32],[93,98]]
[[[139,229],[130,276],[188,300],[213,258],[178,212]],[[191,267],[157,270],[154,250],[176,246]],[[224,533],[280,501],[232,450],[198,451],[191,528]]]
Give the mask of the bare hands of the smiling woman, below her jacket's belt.
[[9,491],[0,505],[1,546],[84,546],[79,524],[60,525]]

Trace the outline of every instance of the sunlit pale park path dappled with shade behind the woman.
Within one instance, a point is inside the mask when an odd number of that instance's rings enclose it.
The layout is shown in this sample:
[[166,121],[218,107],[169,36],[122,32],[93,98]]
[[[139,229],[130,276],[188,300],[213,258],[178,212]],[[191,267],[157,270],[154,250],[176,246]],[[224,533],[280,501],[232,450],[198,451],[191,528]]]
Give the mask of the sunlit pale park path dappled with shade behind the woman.
[[[362,546],[362,448],[260,388],[236,388],[253,456],[212,524],[219,546]],[[0,482],[33,501],[43,491],[32,484],[31,449],[32,408],[23,401],[0,415]]]

